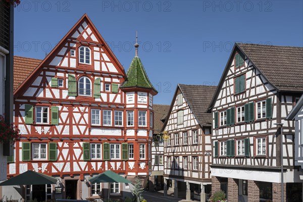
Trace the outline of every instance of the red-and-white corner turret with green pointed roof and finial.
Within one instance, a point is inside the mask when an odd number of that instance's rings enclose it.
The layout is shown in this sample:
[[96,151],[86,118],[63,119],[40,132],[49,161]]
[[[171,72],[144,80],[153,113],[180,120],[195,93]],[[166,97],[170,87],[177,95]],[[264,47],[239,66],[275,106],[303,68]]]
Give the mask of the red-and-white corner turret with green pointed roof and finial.
[[[128,175],[146,176],[151,174],[151,143],[153,140],[154,112],[153,96],[158,93],[150,83],[141,60],[138,57],[137,35],[136,53],[127,71],[126,80],[120,86],[125,92],[126,137],[133,143],[136,171],[128,171]],[[137,152],[136,152],[137,151]],[[144,154],[146,151],[146,154]]]

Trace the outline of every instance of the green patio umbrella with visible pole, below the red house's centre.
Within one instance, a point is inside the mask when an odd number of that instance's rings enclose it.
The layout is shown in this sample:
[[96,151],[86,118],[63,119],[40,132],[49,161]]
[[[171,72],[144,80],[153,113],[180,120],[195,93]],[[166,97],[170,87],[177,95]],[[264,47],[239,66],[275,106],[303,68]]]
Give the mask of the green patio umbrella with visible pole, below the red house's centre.
[[94,176],[90,178],[88,181],[90,183],[109,183],[109,195],[108,198],[110,199],[110,183],[116,182],[116,183],[131,183],[128,179],[118,175],[117,173],[114,173],[111,170],[105,171],[104,173],[101,173],[97,176]]

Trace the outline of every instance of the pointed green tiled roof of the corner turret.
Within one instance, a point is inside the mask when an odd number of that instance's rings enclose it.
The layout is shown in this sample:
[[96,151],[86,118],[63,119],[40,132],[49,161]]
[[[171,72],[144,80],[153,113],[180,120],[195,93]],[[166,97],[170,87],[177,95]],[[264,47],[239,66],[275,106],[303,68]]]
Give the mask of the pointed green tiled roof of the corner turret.
[[155,92],[158,92],[154,88],[153,84],[150,83],[139,57],[134,57],[134,59],[131,61],[130,67],[126,73],[126,77],[125,82],[122,83],[120,88],[149,88],[155,90]]

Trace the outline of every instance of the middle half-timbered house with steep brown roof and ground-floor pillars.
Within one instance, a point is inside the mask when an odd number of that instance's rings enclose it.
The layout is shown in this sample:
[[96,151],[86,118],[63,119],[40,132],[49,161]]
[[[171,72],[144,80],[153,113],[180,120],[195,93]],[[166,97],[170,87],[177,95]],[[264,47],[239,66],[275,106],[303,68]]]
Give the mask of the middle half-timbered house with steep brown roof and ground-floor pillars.
[[206,110],[216,86],[178,84],[163,131],[164,190],[206,201],[211,192],[211,116]]

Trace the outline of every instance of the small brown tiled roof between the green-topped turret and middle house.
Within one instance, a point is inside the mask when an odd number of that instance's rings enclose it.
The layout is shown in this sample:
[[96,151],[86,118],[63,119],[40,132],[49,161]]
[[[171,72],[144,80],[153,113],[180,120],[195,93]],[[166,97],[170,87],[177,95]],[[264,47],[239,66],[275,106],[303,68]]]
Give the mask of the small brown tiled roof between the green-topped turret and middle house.
[[155,105],[154,110],[154,134],[159,134],[162,132],[162,127],[164,125],[163,117],[167,116],[169,111],[169,105]]

